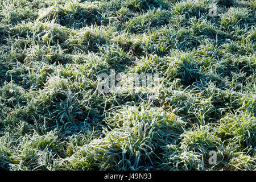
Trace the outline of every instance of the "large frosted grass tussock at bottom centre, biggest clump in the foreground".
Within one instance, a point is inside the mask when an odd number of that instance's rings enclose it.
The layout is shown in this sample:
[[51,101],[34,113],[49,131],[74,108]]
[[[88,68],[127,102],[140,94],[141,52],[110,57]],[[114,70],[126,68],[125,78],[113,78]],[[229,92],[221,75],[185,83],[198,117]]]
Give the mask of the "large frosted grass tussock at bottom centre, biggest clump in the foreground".
[[[162,150],[160,146],[168,140],[175,140],[182,132],[180,127],[185,124],[174,114],[144,105],[115,111],[105,122],[112,130],[105,130],[102,138],[79,147],[68,166],[71,167],[76,159],[93,162],[93,166],[100,169],[150,169],[159,160],[154,153]],[[167,128],[169,132],[165,133]],[[86,169],[86,166],[80,167],[75,166],[76,169]]]

